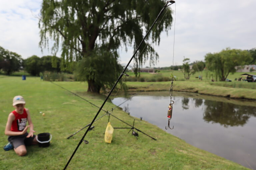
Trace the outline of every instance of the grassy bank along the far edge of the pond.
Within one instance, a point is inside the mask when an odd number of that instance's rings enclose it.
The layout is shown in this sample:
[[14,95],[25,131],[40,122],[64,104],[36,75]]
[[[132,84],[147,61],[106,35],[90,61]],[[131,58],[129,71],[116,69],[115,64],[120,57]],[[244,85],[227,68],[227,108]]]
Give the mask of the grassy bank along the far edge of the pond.
[[[216,83],[216,85],[215,85]],[[256,89],[224,87],[218,82],[206,81],[175,81],[174,91],[194,92],[200,94],[222,96],[237,99],[256,100]],[[227,82],[229,83],[229,82]],[[230,82],[232,83],[232,82]],[[256,83],[248,83],[255,85]],[[130,92],[170,90],[171,82],[127,82]],[[254,87],[254,86],[253,86]]]

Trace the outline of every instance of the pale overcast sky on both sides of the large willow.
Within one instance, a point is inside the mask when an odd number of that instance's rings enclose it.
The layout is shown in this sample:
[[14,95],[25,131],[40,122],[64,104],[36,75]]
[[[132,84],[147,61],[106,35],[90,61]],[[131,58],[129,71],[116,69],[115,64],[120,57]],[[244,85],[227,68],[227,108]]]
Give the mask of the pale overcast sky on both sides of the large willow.
[[[40,13],[41,3],[42,0],[0,0],[0,46],[24,59],[51,55],[51,51],[42,52],[38,45],[40,37],[35,16]],[[205,54],[227,47],[256,48],[255,0],[176,0],[170,7],[172,28],[168,35],[161,34],[159,46],[154,45],[159,54],[154,67],[181,65],[184,57],[191,62],[204,60]],[[126,65],[133,48],[128,47],[127,52],[120,49],[119,54],[120,63]],[[143,65],[146,66],[150,66],[149,62]]]

